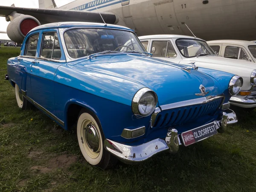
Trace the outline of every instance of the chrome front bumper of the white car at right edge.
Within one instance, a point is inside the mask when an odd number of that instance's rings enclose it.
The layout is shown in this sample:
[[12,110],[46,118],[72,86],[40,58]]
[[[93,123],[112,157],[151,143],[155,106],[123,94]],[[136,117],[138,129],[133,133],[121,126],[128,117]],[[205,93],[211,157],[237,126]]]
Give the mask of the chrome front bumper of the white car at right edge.
[[246,97],[233,96],[230,98],[230,104],[242,108],[255,108],[256,95],[248,95]]

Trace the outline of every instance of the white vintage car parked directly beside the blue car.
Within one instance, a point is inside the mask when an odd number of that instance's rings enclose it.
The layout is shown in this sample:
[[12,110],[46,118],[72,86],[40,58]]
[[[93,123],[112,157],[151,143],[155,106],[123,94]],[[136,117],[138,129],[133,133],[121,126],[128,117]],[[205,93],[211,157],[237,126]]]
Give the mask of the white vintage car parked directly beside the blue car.
[[218,56],[207,42],[200,38],[184,35],[147,35],[139,39],[145,49],[153,54],[152,57],[190,66],[195,62],[197,67],[241,76],[244,84],[239,94],[231,97],[230,103],[242,108],[256,108],[256,64]]

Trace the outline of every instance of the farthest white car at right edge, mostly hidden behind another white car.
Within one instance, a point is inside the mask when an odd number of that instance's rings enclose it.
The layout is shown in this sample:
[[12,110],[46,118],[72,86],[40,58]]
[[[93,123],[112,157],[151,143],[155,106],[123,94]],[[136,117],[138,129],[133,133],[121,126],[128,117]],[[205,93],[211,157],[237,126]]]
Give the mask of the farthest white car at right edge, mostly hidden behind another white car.
[[253,41],[215,40],[207,41],[207,44],[217,55],[225,58],[256,62],[256,44]]

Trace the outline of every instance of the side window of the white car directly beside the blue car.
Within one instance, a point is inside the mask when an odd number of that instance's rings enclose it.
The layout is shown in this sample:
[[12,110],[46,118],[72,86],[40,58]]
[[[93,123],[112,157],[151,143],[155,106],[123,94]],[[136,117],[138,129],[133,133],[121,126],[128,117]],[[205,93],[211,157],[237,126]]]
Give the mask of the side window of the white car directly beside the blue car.
[[[166,50],[167,49],[167,50]],[[151,47],[153,57],[176,57],[176,52],[169,41],[153,41]]]

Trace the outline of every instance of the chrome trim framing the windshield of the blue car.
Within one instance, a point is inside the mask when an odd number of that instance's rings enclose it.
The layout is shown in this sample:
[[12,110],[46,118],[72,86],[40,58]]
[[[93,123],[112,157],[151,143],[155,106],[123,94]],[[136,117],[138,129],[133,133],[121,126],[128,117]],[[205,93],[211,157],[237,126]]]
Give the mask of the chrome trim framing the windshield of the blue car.
[[[84,56],[84,57],[80,57],[80,58],[72,58],[70,57],[68,51],[67,51],[67,46],[66,46],[66,42],[65,42],[65,39],[64,39],[64,33],[67,32],[67,30],[71,30],[71,29],[113,29],[113,30],[120,30],[120,31],[127,31],[127,32],[131,32],[133,33],[136,37],[137,35],[131,31],[131,30],[128,30],[128,29],[118,29],[118,28],[112,28],[112,27],[104,27],[104,26],[75,26],[75,27],[69,27],[69,28],[59,28],[59,33],[60,33],[60,37],[61,37],[61,44],[62,44],[62,48],[64,50],[64,54],[66,56],[66,59],[67,59],[67,62],[69,61],[77,61],[77,60],[80,60],[80,59],[83,59],[83,58],[88,58],[88,56]],[[137,37],[138,41],[140,42],[140,39]],[[141,44],[141,46],[143,47],[143,45]],[[143,47],[143,49],[145,49]]]

